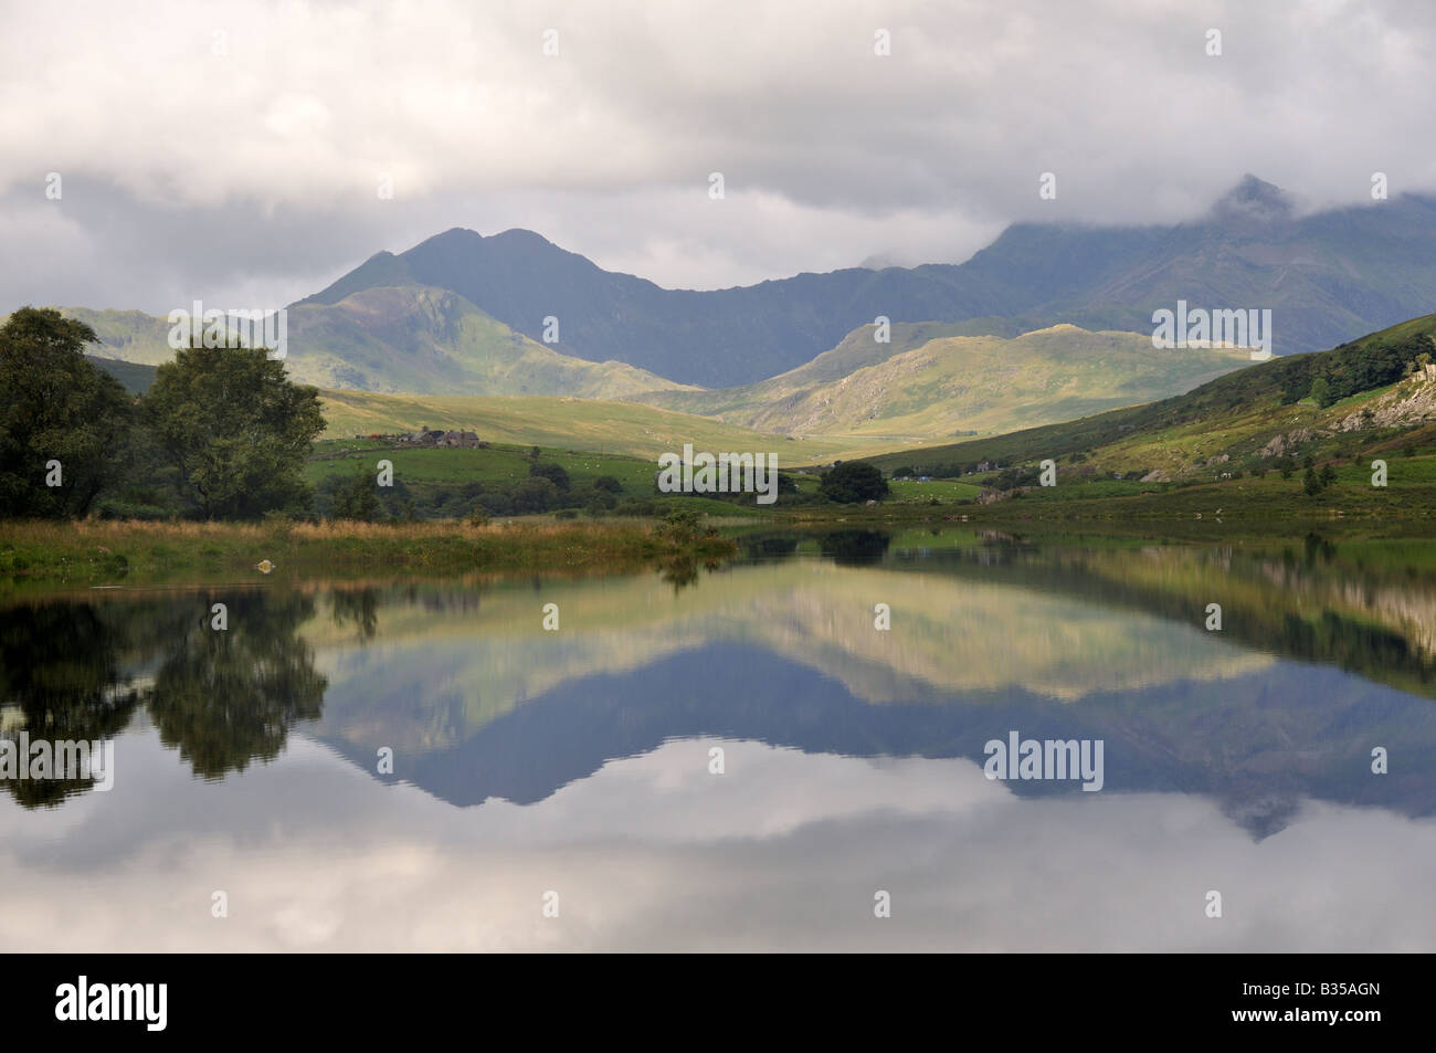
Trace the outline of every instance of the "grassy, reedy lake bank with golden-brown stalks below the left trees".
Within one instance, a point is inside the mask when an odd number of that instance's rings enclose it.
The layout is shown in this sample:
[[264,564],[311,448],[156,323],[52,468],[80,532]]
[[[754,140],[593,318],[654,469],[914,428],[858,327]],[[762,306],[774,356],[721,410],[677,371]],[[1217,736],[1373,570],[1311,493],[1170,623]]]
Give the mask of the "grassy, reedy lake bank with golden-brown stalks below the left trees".
[[[0,592],[95,585],[464,575],[593,573],[737,546],[662,524],[0,523]],[[269,570],[260,566],[269,562]]]

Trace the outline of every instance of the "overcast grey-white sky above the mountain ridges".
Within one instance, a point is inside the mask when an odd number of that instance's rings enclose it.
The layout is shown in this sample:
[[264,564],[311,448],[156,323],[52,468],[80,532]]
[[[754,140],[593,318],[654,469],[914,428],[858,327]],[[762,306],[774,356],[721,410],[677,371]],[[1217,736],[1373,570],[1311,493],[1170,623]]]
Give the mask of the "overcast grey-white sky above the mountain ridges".
[[1307,207],[1370,203],[1376,171],[1436,191],[1436,6],[1402,0],[0,0],[0,312],[281,306],[449,227],[714,289],[955,263],[1014,220],[1189,218],[1244,172]]

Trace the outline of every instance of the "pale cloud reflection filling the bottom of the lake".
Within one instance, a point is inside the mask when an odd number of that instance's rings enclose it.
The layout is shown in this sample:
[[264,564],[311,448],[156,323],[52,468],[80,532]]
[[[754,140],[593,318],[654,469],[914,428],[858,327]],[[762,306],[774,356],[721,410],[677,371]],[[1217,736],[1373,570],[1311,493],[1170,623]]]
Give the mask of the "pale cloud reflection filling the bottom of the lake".
[[[7,951],[1420,951],[1436,825],[1307,803],[1018,797],[971,760],[675,740],[530,806],[455,809],[302,737],[197,786],[152,730],[116,784],[0,806]],[[57,838],[63,826],[63,838]],[[103,872],[102,892],[95,873]],[[1313,881],[1313,875],[1321,875]],[[211,894],[230,917],[210,915]],[[560,915],[541,915],[556,891]],[[877,889],[892,917],[873,917]],[[1206,892],[1223,917],[1205,917]]]

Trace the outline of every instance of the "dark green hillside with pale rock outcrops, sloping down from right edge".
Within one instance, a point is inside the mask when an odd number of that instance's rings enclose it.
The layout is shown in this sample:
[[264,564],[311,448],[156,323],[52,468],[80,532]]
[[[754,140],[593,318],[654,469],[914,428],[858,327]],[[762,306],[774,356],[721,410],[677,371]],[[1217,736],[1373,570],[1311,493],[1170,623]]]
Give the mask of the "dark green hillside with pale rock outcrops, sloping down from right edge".
[[[1419,455],[1436,444],[1436,369],[1420,366],[1436,358],[1433,338],[1436,315],[1427,315],[1333,351],[1255,363],[1149,405],[869,460],[887,470],[1001,483],[999,473],[974,470],[988,461],[1005,468],[1030,503],[1213,483],[1275,501],[1274,513],[1290,503],[1285,491],[1300,496],[1308,464],[1330,465],[1327,484],[1353,487],[1356,504],[1386,507],[1396,491],[1370,481],[1371,461],[1383,460],[1390,487],[1423,488],[1410,494],[1420,504],[1436,484],[1427,478],[1433,465]],[[1057,463],[1060,484],[1031,486],[1047,458]],[[1162,504],[1185,507],[1178,494]]]

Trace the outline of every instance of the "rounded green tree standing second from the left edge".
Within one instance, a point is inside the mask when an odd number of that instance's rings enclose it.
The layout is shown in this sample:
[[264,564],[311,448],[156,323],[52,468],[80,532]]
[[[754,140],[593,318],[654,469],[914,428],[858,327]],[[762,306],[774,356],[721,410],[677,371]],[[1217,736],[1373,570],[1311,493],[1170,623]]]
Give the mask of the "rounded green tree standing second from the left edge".
[[325,430],[316,388],[263,348],[187,348],[159,366],[145,419],[205,519],[254,519],[309,500],[303,465]]

